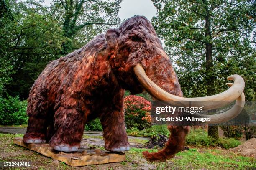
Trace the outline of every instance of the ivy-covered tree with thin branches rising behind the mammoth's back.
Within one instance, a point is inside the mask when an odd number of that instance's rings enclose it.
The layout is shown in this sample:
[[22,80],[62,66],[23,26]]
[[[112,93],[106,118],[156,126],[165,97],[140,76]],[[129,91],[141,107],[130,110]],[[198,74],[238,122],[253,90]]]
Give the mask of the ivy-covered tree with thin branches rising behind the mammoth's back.
[[110,26],[120,24],[118,11],[122,0],[55,0],[52,17],[59,21],[68,41],[61,54],[80,48]]

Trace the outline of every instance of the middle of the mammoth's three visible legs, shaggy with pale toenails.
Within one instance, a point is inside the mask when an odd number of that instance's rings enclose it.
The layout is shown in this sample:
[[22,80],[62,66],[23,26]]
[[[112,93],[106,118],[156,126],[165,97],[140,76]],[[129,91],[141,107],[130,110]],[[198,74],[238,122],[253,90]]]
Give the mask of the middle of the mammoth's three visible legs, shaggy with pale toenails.
[[59,107],[54,115],[54,135],[49,144],[55,150],[77,151],[84,132],[84,113],[76,108]]

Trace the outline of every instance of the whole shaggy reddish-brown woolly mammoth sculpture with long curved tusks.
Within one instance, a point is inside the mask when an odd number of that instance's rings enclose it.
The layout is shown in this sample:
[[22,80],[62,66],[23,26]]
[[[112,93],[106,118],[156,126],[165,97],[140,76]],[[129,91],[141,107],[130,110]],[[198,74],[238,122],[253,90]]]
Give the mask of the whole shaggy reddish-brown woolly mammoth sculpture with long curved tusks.
[[[55,150],[77,151],[84,125],[99,117],[105,149],[129,150],[124,123],[125,90],[138,94],[146,89],[154,98],[165,101],[230,102],[238,98],[237,105],[243,106],[243,79],[238,75],[229,79],[235,80],[233,86],[221,94],[183,98],[171,60],[154,28],[145,17],[135,16],[118,29],[109,29],[82,48],[49,62],[29,94],[28,128],[23,142],[49,142]],[[235,114],[228,111],[224,119]],[[220,122],[220,117],[223,121],[223,115],[219,115],[210,123]],[[148,160],[164,160],[182,150],[189,127],[168,128],[171,136],[166,147],[158,153],[144,152]]]

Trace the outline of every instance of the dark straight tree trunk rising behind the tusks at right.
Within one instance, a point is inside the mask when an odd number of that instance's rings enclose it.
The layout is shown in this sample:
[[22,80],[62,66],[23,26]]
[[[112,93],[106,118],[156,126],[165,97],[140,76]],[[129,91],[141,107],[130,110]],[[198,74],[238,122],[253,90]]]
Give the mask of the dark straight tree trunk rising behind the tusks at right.
[[[207,7],[207,5],[206,5]],[[207,38],[207,42],[205,43],[205,60],[206,60],[206,85],[207,85],[207,96],[210,96],[213,94],[213,88],[212,88],[212,79],[214,77],[212,76],[212,36],[211,36],[211,18],[210,18],[210,12],[207,10],[207,15],[205,16],[205,37]],[[218,126],[208,126],[208,136],[213,138],[218,138]]]

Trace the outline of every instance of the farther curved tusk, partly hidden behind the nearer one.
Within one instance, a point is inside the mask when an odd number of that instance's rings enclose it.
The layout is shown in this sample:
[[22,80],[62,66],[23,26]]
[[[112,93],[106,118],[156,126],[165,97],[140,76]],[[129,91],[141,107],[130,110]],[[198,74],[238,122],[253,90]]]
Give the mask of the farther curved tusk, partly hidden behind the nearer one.
[[[232,86],[233,83],[227,83],[228,86]],[[210,118],[210,121],[205,121],[207,124],[217,124],[222,122],[227,122],[236,116],[243,110],[245,104],[245,96],[244,93],[236,99],[236,104],[229,110],[220,113],[220,114],[213,114],[213,115],[205,115],[205,114],[196,114],[200,117]]]

